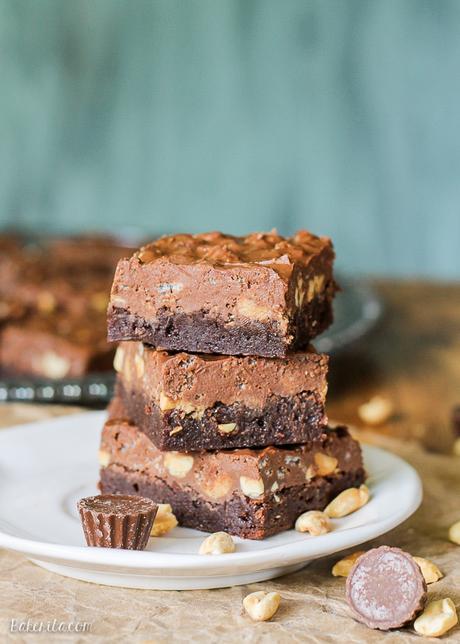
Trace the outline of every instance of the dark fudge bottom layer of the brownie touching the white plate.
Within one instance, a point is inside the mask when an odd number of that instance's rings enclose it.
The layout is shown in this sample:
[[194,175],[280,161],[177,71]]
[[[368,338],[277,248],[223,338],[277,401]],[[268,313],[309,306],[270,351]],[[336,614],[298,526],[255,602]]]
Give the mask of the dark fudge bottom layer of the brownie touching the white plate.
[[365,472],[319,477],[303,486],[279,491],[277,500],[257,501],[234,494],[223,503],[212,503],[192,489],[154,480],[120,465],[101,470],[100,490],[103,494],[137,494],[157,503],[170,503],[179,524],[205,532],[223,530],[245,539],[264,539],[294,526],[297,517],[307,510],[322,510],[342,490],[357,487],[365,480]]

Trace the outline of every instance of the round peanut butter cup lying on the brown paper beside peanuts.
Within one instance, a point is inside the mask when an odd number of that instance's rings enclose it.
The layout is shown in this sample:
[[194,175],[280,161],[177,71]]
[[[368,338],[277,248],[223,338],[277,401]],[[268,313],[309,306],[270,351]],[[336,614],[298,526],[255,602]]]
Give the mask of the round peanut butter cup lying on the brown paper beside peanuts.
[[347,577],[347,601],[356,619],[387,631],[415,619],[426,602],[426,583],[413,557],[381,546],[362,555]]

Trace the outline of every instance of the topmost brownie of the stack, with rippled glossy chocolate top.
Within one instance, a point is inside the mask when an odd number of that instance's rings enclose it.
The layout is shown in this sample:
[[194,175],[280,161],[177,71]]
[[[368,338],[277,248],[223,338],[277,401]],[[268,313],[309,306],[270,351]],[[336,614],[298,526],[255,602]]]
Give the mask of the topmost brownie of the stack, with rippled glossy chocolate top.
[[284,357],[331,323],[333,260],[331,241],[306,231],[163,237],[118,263],[109,339]]

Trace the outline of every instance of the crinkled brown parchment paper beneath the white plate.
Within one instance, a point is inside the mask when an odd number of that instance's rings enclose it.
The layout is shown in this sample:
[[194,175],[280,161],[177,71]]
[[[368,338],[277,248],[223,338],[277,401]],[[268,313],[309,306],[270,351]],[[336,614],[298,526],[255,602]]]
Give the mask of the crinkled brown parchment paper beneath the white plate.
[[[75,410],[66,410],[75,411]],[[2,426],[63,413],[63,408],[0,407]],[[460,608],[460,546],[447,530],[460,519],[460,458],[430,454],[416,442],[377,433],[359,437],[399,454],[423,479],[424,501],[417,513],[364,548],[388,544],[433,560],[445,577],[428,587],[429,599],[450,597]],[[397,503],[397,499],[395,499]],[[361,548],[361,547],[359,547]],[[358,549],[358,548],[356,548]],[[381,633],[355,622],[345,602],[342,578],[331,568],[342,555],[271,581],[211,591],[150,591],[97,586],[42,570],[24,557],[0,550],[0,640],[14,642],[421,642],[410,629]],[[282,603],[270,622],[253,623],[242,609],[255,590],[278,591]],[[15,635],[11,619],[80,621],[90,635]],[[426,640],[434,641],[434,640]],[[460,627],[443,637],[460,642]]]

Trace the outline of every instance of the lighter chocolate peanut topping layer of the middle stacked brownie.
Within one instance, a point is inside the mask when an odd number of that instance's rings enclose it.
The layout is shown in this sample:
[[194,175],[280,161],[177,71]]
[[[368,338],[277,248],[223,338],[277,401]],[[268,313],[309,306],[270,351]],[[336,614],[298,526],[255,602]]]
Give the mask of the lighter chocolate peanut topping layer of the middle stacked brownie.
[[273,359],[168,353],[124,342],[116,367],[125,388],[141,389],[155,404],[200,411],[238,401],[262,409],[273,395],[315,392],[324,401],[328,357],[313,348]]

